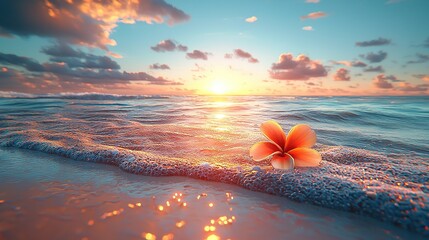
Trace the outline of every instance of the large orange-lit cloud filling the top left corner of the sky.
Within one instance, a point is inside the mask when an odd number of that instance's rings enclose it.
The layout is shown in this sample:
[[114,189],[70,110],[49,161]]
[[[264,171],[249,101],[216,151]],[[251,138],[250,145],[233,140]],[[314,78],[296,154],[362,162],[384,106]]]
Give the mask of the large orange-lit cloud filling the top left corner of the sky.
[[164,0],[0,1],[2,35],[48,37],[105,50],[116,44],[110,34],[118,23],[173,25],[189,18]]

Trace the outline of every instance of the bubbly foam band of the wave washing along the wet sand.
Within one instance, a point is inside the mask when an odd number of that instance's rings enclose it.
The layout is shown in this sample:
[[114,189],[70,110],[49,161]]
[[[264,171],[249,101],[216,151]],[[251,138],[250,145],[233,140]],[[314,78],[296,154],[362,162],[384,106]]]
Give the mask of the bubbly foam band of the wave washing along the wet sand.
[[119,148],[79,151],[79,148],[15,138],[1,145],[73,160],[107,163],[136,175],[185,176],[228,183],[297,202],[373,217],[429,235],[426,163],[417,166],[407,163],[407,159],[338,146],[318,149],[323,159],[320,167],[285,172],[265,169],[261,163],[255,162],[222,162],[229,165],[205,162],[196,165],[180,159],[166,161],[144,152],[138,155]]

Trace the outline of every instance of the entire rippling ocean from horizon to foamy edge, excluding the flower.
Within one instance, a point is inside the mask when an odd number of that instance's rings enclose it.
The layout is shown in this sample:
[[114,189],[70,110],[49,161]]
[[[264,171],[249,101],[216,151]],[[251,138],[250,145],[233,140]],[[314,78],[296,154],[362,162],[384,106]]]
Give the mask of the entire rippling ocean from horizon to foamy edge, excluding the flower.
[[[259,125],[318,136],[317,168],[253,162]],[[14,95],[0,146],[137,174],[226,182],[429,233],[429,97]]]

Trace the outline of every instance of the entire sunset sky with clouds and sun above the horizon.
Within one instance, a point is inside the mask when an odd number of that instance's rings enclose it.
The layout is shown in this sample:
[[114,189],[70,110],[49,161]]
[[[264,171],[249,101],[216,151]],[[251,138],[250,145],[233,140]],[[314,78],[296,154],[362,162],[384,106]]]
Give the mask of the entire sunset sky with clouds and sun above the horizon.
[[3,0],[0,91],[428,95],[427,0]]

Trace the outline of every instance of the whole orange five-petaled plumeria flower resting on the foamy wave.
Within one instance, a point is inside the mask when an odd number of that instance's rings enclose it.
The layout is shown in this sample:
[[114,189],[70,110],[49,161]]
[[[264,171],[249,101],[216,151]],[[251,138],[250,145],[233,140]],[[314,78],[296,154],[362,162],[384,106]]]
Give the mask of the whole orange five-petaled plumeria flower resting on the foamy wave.
[[274,120],[261,125],[261,131],[270,142],[258,142],[250,148],[250,156],[255,161],[269,157],[271,165],[277,169],[315,167],[322,160],[319,152],[311,149],[316,143],[316,133],[305,124],[294,126],[286,136],[282,127]]

